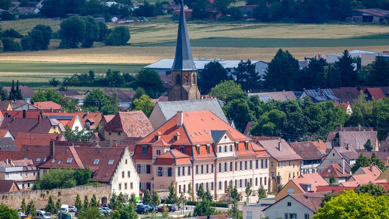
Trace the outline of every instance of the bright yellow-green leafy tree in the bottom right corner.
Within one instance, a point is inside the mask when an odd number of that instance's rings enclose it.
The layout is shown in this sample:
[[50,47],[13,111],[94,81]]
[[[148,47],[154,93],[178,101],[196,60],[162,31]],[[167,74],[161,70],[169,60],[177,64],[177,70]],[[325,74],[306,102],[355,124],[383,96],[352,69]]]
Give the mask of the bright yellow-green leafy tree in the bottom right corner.
[[[330,201],[324,202],[313,219],[346,219],[364,218],[372,219],[376,215],[388,217],[389,201],[385,197],[374,198],[367,193],[355,193],[353,190],[345,190]],[[384,213],[385,212],[385,213]],[[382,214],[385,214],[383,216]]]

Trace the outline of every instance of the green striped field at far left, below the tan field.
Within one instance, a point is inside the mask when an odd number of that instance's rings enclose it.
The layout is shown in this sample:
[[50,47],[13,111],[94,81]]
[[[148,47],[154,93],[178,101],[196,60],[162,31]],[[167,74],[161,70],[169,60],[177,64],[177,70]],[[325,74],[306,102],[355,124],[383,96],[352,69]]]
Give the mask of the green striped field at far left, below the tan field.
[[0,81],[8,85],[12,80],[29,82],[29,86],[48,85],[52,78],[62,79],[74,73],[106,73],[108,69],[122,73],[137,73],[146,64],[60,63],[0,61]]

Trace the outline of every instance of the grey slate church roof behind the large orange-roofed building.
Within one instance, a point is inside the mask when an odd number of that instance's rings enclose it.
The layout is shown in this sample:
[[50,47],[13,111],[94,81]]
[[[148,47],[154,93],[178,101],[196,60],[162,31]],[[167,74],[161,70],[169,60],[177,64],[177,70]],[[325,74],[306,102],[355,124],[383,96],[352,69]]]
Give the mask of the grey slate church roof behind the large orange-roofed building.
[[224,122],[228,123],[227,117],[224,114],[219,102],[215,98],[202,100],[181,100],[181,101],[167,101],[158,102],[166,121],[177,114],[177,111],[199,111],[210,110],[213,114],[219,117]]

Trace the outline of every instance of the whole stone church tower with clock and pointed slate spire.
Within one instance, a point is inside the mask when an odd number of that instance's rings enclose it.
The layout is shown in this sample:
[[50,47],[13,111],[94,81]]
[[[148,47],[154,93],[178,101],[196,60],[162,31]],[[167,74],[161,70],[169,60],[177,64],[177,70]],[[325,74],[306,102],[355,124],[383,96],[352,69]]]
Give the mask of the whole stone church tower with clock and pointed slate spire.
[[184,1],[181,0],[179,14],[176,56],[172,66],[173,88],[169,91],[169,101],[199,100],[200,91],[197,88],[197,69],[193,61],[191,43],[184,12]]

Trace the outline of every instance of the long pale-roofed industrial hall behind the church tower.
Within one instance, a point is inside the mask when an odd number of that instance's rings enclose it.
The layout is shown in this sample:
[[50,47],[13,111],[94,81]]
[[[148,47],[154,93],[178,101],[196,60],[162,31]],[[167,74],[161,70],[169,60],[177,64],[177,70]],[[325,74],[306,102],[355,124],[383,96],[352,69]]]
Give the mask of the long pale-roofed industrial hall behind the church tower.
[[[197,72],[201,73],[201,71],[204,69],[205,64],[208,64],[212,61],[219,62],[226,70],[227,72],[233,73],[234,67],[238,67],[238,64],[240,60],[225,60],[220,58],[195,58],[193,59],[195,61],[195,66],[197,68]],[[157,62],[154,62],[148,66],[144,66],[143,68],[150,68],[159,74],[171,74],[171,68],[173,66],[173,59],[161,59]],[[258,60],[251,60],[252,64],[255,64],[255,69],[258,72],[259,75],[265,74],[265,69],[267,68],[267,63],[263,61]]]

